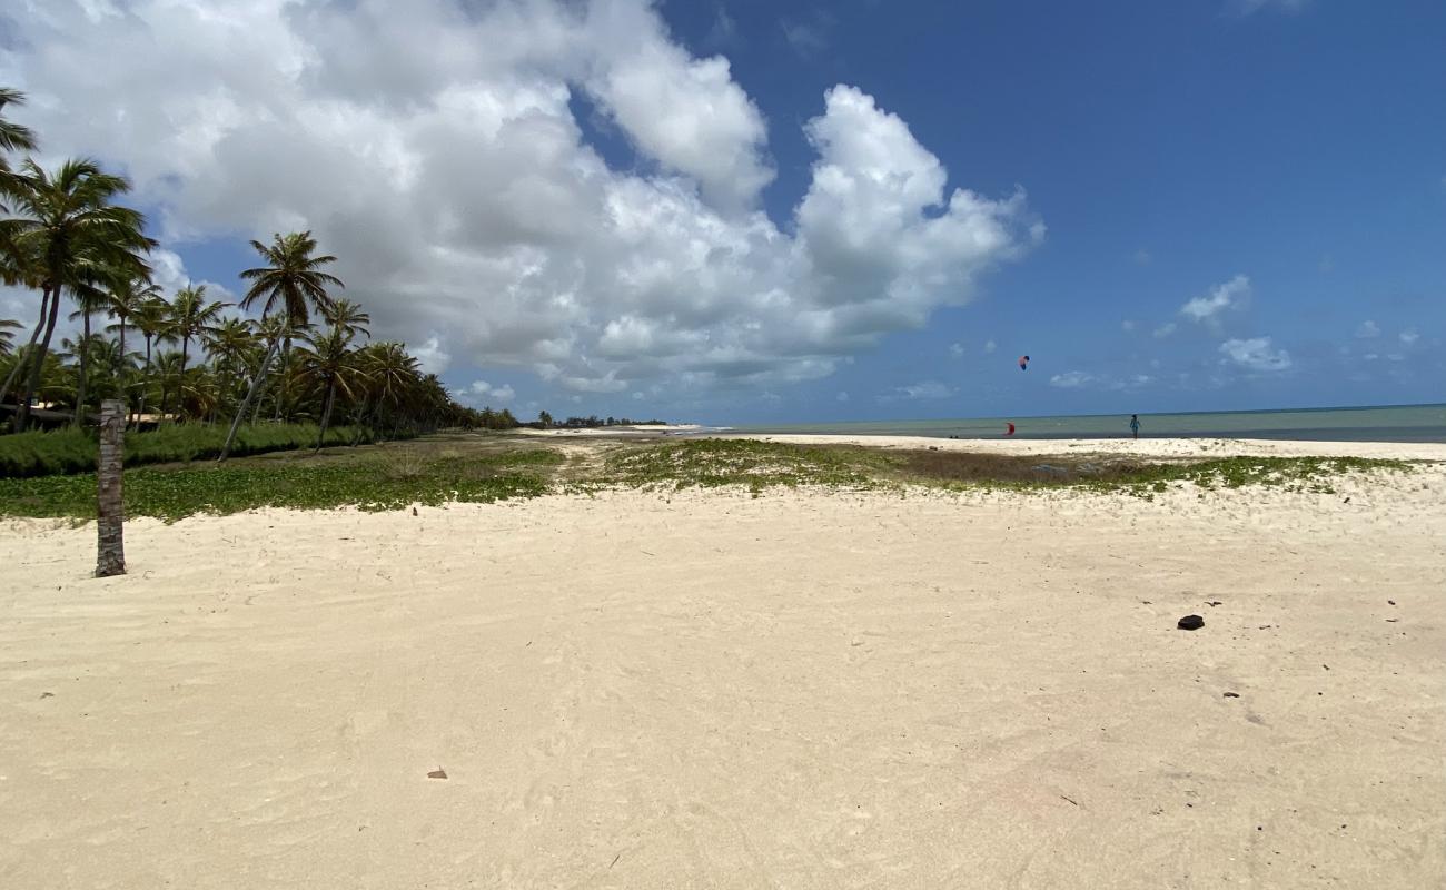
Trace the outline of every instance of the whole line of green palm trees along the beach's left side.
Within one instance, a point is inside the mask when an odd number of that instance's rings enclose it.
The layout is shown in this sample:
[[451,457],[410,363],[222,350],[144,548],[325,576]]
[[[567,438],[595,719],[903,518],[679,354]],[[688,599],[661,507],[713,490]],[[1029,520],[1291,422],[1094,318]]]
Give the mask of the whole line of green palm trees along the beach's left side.
[[[36,148],[35,133],[3,114],[22,101],[0,88],[0,281],[39,295],[29,337],[0,318],[12,431],[32,425],[38,401],[80,425],[106,398],[123,399],[136,423],[228,423],[223,459],[243,423],[263,420],[314,421],[318,447],[338,420],[382,436],[518,425],[506,410],[457,404],[402,343],[372,342],[370,315],[335,297],[346,287],[327,271],[335,258],[309,232],[253,240],[260,263],[241,272],[249,288],[234,305],[205,285],[163,294],[146,262],[156,242],[145,217],[117,204],[124,177],[88,159],[10,166],[10,153]],[[80,333],[55,344],[62,307]]]

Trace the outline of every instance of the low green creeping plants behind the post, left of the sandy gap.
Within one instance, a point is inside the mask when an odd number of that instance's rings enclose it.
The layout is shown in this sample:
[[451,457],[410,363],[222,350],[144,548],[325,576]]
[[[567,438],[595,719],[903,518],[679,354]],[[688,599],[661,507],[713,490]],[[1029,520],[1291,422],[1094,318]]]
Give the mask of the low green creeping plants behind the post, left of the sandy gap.
[[[126,470],[126,515],[175,521],[194,514],[230,514],[260,507],[367,511],[450,501],[532,498],[551,489],[548,470],[562,457],[531,450],[415,462],[376,454],[367,460],[266,462]],[[95,517],[95,475],[0,479],[0,514]]]

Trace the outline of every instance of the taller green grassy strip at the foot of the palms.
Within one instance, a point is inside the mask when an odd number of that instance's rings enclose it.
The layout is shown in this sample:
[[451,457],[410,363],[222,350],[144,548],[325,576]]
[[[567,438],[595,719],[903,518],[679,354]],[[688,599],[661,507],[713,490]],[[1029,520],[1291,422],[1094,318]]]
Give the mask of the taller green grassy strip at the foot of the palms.
[[[233,454],[265,454],[317,444],[317,424],[256,424],[237,431]],[[165,425],[126,434],[126,466],[185,463],[221,453],[226,430],[201,424]],[[333,427],[324,444],[370,443],[376,434],[366,427]],[[0,479],[85,473],[95,469],[95,433],[67,427],[54,433],[32,430],[0,436]]]

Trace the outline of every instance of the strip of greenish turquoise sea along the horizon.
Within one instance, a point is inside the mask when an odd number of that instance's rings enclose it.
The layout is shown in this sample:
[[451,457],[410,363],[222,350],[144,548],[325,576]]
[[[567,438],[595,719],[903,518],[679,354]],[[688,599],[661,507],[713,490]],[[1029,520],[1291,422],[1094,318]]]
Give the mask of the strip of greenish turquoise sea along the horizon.
[[[1015,425],[1014,438],[1118,438],[1129,436],[1128,414],[850,421],[836,424],[740,427],[739,431],[1004,438],[1005,424],[1008,423],[1014,423]],[[1141,414],[1139,437],[1446,441],[1446,405]]]

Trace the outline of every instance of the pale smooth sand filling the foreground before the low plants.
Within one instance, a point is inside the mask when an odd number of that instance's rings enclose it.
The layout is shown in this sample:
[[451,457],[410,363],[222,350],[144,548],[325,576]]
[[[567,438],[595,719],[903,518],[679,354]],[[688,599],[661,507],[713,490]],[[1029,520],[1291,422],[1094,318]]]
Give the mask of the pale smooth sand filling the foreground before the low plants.
[[1442,886],[1443,504],[6,521],[0,886]]

